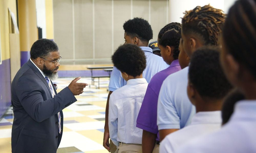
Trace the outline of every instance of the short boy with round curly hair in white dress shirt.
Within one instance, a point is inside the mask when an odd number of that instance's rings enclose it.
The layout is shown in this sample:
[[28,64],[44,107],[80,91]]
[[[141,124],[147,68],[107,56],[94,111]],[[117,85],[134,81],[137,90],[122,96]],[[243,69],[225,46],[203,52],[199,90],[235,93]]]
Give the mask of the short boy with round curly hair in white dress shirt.
[[142,130],[135,125],[147,89],[142,73],[146,56],[140,47],[120,46],[112,56],[114,66],[127,84],[115,90],[109,98],[109,134],[118,152],[142,152]]

